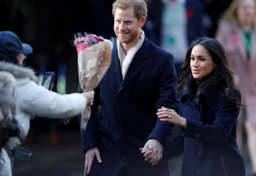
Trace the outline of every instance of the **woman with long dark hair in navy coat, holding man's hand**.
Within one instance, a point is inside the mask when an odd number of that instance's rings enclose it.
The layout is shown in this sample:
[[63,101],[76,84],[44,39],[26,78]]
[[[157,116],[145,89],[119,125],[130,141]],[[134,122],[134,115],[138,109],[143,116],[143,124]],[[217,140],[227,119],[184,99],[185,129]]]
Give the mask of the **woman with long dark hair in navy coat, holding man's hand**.
[[[236,143],[241,95],[217,40],[192,42],[176,91],[179,114],[165,107],[157,112],[161,121],[181,126],[180,136],[166,144],[163,160],[184,153],[182,176],[245,176]],[[145,160],[153,153],[146,151]]]

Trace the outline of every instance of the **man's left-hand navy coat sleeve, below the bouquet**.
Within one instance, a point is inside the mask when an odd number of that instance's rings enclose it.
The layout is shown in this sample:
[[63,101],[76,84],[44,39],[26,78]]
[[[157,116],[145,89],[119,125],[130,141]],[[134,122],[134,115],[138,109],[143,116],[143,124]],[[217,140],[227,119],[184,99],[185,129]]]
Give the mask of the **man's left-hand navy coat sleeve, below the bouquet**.
[[[95,94],[93,106],[91,106],[91,117],[88,121],[86,130],[80,130],[82,149],[84,154],[88,148],[99,145],[99,139],[97,135],[98,107],[101,105],[99,86],[94,89],[94,92]],[[79,115],[79,123],[81,124],[81,115]]]

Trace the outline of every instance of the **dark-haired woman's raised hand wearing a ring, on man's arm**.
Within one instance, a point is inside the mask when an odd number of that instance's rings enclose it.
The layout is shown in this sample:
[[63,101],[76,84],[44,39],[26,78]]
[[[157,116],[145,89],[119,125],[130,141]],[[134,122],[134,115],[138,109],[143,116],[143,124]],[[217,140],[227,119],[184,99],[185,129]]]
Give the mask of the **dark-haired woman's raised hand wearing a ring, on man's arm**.
[[174,125],[179,125],[184,129],[187,128],[186,119],[178,115],[178,113],[175,112],[175,110],[168,109],[162,106],[162,108],[158,109],[157,111],[157,116],[158,118],[160,118],[160,121],[168,121]]

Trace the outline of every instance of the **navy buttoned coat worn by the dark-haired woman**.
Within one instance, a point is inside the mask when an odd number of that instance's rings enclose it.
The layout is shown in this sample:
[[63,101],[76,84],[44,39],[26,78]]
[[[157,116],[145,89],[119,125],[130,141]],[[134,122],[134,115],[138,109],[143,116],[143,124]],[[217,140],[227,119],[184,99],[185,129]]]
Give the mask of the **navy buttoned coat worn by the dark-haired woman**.
[[222,94],[221,88],[205,88],[200,107],[193,94],[179,96],[179,114],[187,119],[187,129],[167,143],[163,160],[184,153],[181,176],[245,176],[236,143],[239,110]]

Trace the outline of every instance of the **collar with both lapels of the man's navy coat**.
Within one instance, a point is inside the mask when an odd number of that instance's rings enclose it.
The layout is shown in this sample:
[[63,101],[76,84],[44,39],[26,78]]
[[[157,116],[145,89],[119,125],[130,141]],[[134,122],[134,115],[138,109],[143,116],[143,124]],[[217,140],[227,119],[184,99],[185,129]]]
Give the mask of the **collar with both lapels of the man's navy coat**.
[[148,48],[149,40],[144,39],[142,46],[139,51],[134,55],[133,61],[125,75],[122,79],[122,72],[120,67],[120,61],[117,54],[117,38],[114,40],[114,46],[112,51],[112,61],[111,61],[111,71],[114,74],[114,78],[117,82],[117,85],[120,87],[120,90],[123,89],[133,78],[134,76],[142,69],[145,64],[145,59],[148,57]]

